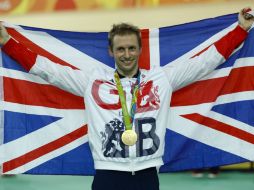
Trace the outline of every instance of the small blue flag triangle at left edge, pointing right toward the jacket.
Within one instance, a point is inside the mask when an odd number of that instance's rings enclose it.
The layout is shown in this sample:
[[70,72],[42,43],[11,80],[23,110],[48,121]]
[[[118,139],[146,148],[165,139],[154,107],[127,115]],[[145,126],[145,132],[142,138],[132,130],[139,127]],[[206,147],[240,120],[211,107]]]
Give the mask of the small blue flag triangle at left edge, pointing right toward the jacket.
[[59,119],[47,115],[4,111],[4,143],[18,139]]

